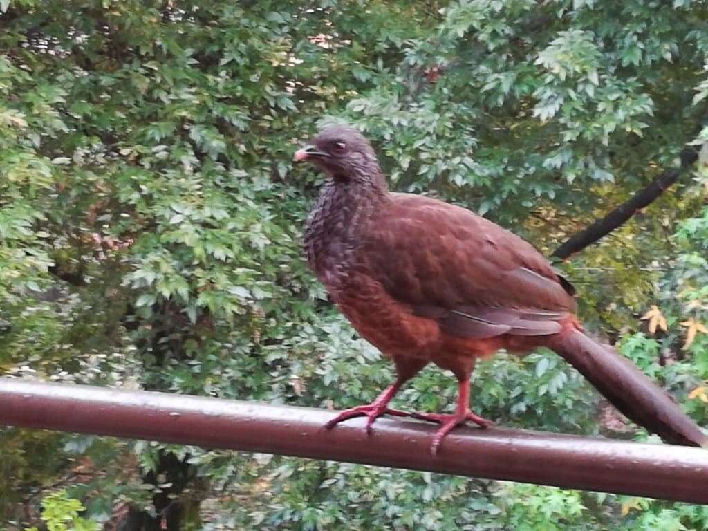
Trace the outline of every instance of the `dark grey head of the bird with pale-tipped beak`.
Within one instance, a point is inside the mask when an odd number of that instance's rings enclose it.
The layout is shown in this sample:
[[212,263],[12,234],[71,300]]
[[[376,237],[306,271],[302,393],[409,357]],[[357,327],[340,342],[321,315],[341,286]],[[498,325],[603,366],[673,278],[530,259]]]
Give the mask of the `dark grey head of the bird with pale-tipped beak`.
[[311,162],[337,182],[383,181],[379,162],[369,141],[353,127],[325,127],[307,146],[292,156],[295,162]]

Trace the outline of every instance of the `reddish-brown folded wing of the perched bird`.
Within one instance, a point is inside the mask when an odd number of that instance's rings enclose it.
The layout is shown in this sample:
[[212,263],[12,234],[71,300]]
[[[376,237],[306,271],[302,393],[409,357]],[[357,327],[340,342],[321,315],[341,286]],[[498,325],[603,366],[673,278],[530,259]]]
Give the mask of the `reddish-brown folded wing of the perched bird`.
[[462,338],[560,331],[573,288],[533,246],[464,208],[389,198],[359,235],[357,267],[397,302]]

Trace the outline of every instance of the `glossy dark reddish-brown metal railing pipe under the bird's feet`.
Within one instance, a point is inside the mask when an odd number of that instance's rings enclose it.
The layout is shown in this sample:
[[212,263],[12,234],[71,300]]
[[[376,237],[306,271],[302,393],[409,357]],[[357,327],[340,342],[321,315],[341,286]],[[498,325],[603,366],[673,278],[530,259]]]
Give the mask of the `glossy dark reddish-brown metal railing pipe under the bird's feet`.
[[336,412],[0,378],[0,424],[330,459],[708,503],[708,451],[505,428],[437,429],[382,418],[323,428]]

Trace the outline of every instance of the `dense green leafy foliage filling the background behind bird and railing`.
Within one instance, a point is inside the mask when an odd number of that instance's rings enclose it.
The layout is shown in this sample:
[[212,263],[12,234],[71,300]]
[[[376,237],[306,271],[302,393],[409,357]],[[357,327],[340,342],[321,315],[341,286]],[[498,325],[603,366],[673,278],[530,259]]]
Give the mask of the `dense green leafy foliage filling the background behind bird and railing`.
[[[374,398],[391,367],[299,249],[321,177],[290,157],[319,120],[366,130],[392,187],[547,255],[708,141],[704,1],[0,0],[0,13],[3,375]],[[706,425],[708,180],[694,169],[561,268],[588,327]],[[398,403],[442,410],[454,394],[429,369]],[[646,438],[547,352],[482,363],[473,406],[506,426]],[[42,505],[81,529],[708,527],[706,508],[680,503],[68,434],[0,428],[0,455],[13,530],[41,526]]]

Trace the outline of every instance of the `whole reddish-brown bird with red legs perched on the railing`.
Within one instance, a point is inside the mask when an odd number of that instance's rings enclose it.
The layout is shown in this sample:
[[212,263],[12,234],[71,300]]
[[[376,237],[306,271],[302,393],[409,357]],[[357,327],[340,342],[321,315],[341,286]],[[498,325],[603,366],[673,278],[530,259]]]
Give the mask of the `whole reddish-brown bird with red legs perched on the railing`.
[[491,425],[469,409],[474,364],[505,348],[554,350],[641,426],[673,444],[708,435],[610,346],[583,333],[572,285],[515,234],[448,203],[387,189],[376,154],[351,127],[327,127],[293,156],[329,176],[304,231],[309,266],[367,341],[396,365],[372,404],[342,411],[332,428],[367,416],[367,431],[401,386],[428,363],[459,382],[455,413],[411,413],[440,423],[431,450],[455,426]]

